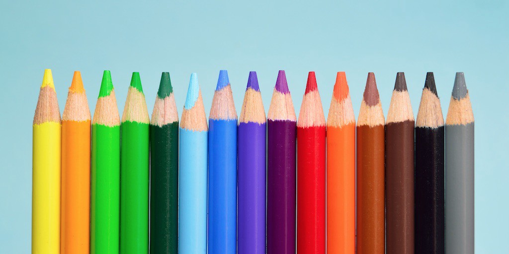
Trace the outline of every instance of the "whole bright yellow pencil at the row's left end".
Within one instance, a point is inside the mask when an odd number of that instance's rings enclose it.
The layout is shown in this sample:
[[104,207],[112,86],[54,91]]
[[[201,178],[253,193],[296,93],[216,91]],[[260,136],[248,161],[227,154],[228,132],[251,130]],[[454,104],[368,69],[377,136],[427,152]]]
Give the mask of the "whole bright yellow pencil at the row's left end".
[[59,253],[62,125],[49,69],[44,70],[33,124],[32,253]]

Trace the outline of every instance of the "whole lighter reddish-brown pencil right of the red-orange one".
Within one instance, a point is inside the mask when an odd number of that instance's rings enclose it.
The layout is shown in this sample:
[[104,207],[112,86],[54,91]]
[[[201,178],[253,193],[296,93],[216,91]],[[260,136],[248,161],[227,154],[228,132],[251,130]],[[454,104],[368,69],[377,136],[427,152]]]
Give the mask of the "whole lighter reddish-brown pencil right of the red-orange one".
[[385,119],[367,74],[357,119],[357,253],[385,253]]

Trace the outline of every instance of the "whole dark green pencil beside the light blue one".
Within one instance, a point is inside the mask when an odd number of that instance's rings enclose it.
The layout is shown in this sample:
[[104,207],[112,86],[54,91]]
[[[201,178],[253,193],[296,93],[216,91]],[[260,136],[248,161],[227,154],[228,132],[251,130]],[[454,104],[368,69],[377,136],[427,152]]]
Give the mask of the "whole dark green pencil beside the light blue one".
[[150,122],[150,252],[177,253],[179,115],[169,73],[163,72]]

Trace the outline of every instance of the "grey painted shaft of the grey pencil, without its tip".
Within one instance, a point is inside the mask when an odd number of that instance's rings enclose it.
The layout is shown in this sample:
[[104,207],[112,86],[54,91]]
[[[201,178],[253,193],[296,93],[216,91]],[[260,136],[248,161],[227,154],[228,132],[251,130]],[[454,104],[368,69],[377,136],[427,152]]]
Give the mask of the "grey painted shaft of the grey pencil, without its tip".
[[474,253],[474,123],[445,125],[445,252]]

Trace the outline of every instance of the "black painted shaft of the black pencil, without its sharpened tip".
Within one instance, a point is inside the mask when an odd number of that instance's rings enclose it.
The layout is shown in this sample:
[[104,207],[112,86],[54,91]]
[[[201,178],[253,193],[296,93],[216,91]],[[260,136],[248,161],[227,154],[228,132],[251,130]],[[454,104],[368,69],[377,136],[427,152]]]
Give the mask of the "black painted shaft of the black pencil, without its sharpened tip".
[[445,253],[444,126],[415,128],[415,253]]

